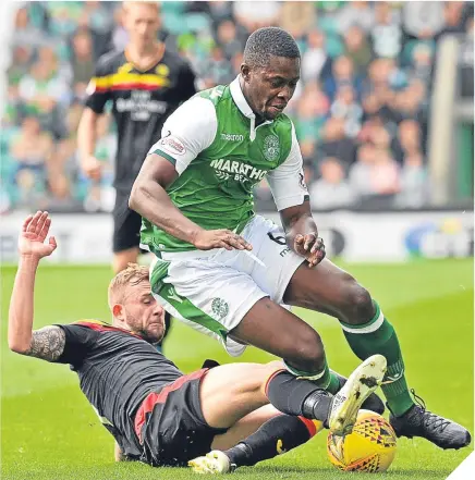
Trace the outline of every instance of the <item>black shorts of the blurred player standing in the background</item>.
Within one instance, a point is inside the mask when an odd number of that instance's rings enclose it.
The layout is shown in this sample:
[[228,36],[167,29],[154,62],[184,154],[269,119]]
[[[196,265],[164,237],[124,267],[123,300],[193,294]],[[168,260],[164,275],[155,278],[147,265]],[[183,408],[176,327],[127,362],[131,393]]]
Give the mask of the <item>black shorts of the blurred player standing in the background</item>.
[[129,208],[130,194],[117,192],[113,208],[113,237],[112,248],[114,254],[141,244],[142,217]]

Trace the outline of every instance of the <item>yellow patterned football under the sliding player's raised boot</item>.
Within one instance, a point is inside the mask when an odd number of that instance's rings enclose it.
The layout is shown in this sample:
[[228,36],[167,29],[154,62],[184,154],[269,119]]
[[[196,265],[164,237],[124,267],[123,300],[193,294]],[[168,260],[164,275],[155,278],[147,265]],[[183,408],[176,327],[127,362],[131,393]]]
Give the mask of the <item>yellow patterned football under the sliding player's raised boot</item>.
[[395,456],[397,438],[389,422],[378,414],[360,410],[353,432],[328,434],[330,461],[343,471],[386,471]]

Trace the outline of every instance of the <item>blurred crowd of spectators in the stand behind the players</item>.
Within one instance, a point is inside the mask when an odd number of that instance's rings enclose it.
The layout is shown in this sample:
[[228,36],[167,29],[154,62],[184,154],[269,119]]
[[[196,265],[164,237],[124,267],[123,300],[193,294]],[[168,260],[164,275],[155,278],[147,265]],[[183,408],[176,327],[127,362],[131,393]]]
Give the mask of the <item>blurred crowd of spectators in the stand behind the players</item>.
[[[76,133],[97,59],[122,49],[121,3],[17,3],[11,39],[8,104],[2,116],[0,211],[110,211],[115,132],[101,120],[96,157],[107,168],[85,179]],[[186,57],[197,87],[231,82],[254,29],[289,30],[302,51],[293,119],[316,209],[365,198],[419,207],[426,170],[431,81],[444,35],[462,42],[463,95],[473,97],[473,3],[470,2],[163,2],[160,36]],[[271,201],[265,182],[258,201]]]

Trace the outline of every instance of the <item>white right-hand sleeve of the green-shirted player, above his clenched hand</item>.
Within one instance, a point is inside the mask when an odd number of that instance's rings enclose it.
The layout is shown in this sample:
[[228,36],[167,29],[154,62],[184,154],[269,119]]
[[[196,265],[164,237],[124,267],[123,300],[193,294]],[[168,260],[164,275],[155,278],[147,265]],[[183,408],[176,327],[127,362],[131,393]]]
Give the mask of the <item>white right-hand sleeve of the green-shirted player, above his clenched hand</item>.
[[305,185],[302,153],[293,124],[289,157],[276,170],[267,174],[267,181],[279,211],[302,205],[309,198]]

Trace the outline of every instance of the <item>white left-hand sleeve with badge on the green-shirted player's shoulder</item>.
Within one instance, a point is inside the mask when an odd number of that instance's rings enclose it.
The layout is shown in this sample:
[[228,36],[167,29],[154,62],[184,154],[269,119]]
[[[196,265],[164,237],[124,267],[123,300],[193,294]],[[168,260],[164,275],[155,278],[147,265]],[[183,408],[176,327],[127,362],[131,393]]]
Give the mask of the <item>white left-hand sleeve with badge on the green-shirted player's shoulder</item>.
[[166,158],[181,175],[191,161],[212,144],[217,130],[218,119],[211,100],[193,97],[167,119],[161,138],[148,155]]

